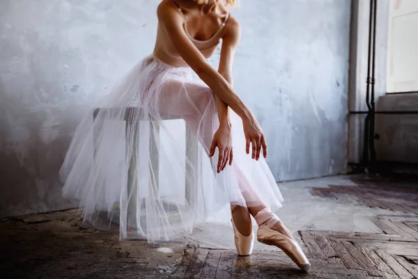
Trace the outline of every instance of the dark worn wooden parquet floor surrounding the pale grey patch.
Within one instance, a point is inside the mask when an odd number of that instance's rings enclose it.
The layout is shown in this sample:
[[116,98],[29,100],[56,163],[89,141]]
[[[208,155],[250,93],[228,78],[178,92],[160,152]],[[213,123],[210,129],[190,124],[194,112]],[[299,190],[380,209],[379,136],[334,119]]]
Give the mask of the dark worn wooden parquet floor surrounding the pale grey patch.
[[360,186],[310,190],[337,204],[389,209],[373,220],[382,232],[298,232],[312,264],[308,273],[279,249],[238,257],[235,250],[183,241],[154,246],[144,240],[118,241],[117,233],[83,224],[75,210],[0,220],[0,279],[418,278],[417,183],[355,182]]

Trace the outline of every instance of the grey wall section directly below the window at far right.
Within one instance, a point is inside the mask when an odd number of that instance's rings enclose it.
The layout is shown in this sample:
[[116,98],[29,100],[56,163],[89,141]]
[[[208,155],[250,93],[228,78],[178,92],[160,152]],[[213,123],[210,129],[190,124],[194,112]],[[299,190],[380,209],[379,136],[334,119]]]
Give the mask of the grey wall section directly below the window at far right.
[[[380,111],[417,110],[418,93],[382,96]],[[418,163],[418,115],[378,114],[376,116],[376,154],[378,160],[400,163]]]

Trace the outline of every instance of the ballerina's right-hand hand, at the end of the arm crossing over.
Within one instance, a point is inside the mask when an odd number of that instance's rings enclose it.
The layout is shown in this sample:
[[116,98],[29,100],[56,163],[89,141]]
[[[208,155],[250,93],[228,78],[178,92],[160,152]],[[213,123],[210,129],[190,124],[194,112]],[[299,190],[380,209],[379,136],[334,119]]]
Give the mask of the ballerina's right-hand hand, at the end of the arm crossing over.
[[255,116],[251,114],[248,119],[242,119],[242,126],[244,128],[246,140],[245,151],[247,154],[249,154],[249,145],[251,144],[251,158],[258,160],[262,147],[263,156],[267,158],[267,143],[265,142],[264,132]]

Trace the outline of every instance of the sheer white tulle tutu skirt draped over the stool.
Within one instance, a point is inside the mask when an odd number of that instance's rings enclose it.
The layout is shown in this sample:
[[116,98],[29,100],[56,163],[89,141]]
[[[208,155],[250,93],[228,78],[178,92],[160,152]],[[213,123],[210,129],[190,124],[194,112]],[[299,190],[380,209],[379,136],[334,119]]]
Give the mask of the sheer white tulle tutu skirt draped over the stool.
[[233,112],[231,122],[233,165],[217,174],[217,153],[208,157],[219,126],[214,94],[191,68],[148,56],[75,130],[63,195],[79,199],[84,220],[100,229],[148,242],[189,234],[226,204],[281,207],[265,160],[245,153]]

